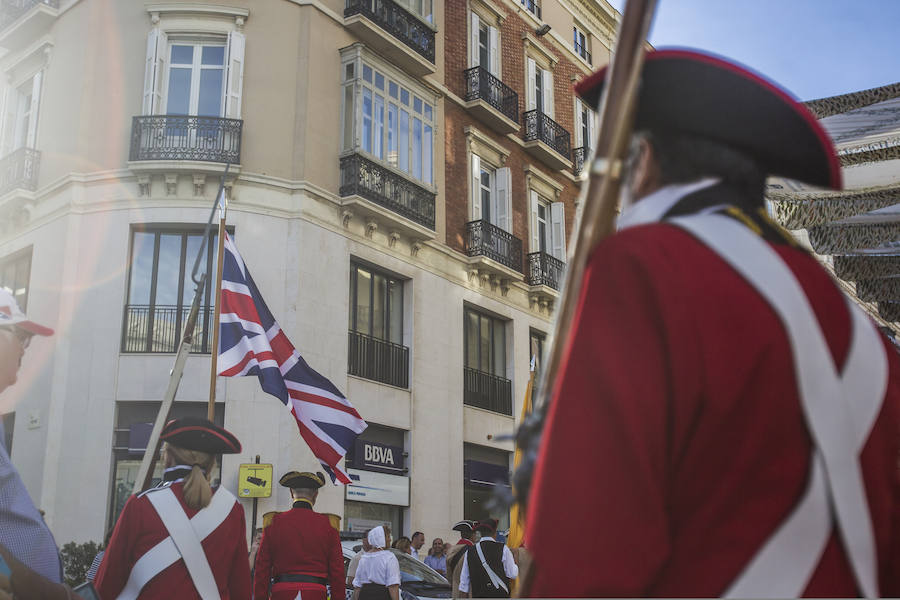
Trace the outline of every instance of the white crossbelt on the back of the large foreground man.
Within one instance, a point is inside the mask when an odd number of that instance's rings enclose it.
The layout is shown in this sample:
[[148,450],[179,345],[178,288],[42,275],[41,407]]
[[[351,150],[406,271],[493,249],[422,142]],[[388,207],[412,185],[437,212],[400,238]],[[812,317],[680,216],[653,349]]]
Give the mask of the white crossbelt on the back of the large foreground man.
[[851,347],[837,372],[802,287],[761,238],[721,215],[676,218],[717,252],[778,314],[788,334],[798,391],[815,450],[810,483],[792,514],[767,540],[726,597],[795,598],[821,560],[836,521],[860,590],[878,596],[875,536],[859,454],[887,389],[888,365],[874,326],[848,301]]

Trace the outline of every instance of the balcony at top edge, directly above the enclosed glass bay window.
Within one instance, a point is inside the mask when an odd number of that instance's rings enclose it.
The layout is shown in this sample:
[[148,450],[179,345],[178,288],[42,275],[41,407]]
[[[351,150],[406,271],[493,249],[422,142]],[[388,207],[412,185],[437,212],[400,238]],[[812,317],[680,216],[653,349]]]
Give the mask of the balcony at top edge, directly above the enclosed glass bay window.
[[434,29],[393,0],[347,0],[344,26],[397,66],[434,73]]

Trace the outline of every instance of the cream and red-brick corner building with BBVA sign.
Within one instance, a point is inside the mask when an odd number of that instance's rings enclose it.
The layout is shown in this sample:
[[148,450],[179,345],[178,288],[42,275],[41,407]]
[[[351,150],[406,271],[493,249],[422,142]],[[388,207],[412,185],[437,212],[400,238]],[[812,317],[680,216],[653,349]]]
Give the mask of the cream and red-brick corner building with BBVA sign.
[[[0,398],[3,442],[57,542],[101,540],[130,493],[223,174],[269,308],[370,424],[359,485],[317,509],[448,539],[487,516],[592,139],[572,84],[618,18],[603,0],[0,0],[0,285],[57,330]],[[206,412],[212,292],[175,416]],[[216,420],[244,446],[214,474],[233,492],[256,455],[276,479],[318,467],[255,378],[218,379]],[[276,485],[259,514],[289,505]]]

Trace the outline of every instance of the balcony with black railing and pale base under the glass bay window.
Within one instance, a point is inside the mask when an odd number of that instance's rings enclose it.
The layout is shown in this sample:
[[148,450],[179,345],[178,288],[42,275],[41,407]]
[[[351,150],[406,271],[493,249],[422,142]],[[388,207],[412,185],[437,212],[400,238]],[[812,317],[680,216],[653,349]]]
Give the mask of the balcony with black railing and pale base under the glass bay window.
[[435,193],[361,154],[341,158],[341,204],[415,239],[433,239]]

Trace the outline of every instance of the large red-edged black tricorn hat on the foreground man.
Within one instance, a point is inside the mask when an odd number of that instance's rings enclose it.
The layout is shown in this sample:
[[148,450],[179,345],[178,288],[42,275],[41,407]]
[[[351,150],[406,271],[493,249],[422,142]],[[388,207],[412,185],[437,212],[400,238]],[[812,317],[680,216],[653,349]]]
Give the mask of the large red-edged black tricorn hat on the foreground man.
[[[607,67],[575,91],[598,107]],[[734,62],[693,50],[648,52],[635,129],[686,133],[728,144],[770,175],[839,190],[834,144],[800,102]]]

